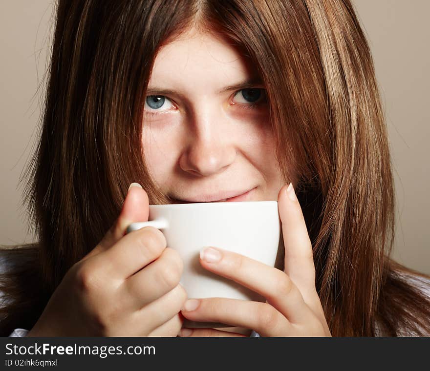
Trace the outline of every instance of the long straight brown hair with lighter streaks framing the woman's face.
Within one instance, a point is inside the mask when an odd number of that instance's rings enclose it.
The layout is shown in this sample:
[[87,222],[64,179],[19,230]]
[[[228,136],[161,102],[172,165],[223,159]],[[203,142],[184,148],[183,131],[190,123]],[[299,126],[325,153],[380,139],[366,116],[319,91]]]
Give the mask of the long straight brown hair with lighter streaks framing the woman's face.
[[131,182],[152,204],[169,202],[145,167],[142,102],[157,51],[190,26],[226,37],[265,83],[282,175],[294,168],[299,179],[331,333],[429,333],[430,300],[405,278],[416,272],[389,259],[387,132],[349,0],[60,0],[24,195],[39,243],[3,251],[20,264],[1,276],[0,333],[32,328],[114,222]]

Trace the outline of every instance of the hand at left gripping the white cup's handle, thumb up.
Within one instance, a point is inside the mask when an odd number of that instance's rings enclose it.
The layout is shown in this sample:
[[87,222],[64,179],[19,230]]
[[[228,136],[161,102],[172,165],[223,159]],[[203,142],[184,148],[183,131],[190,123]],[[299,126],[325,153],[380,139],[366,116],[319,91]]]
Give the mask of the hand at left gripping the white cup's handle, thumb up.
[[176,336],[187,293],[182,260],[158,229],[125,235],[147,221],[148,195],[130,186],[123,209],[102,241],[73,265],[27,336]]

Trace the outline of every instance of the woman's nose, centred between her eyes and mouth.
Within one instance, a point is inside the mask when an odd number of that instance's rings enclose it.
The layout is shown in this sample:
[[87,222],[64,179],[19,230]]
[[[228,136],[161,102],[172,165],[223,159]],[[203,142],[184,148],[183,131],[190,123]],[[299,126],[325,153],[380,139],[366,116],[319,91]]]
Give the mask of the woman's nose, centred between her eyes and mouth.
[[[217,118],[215,118],[215,116]],[[222,113],[194,115],[187,144],[179,159],[182,170],[198,176],[222,172],[236,158],[236,146]]]

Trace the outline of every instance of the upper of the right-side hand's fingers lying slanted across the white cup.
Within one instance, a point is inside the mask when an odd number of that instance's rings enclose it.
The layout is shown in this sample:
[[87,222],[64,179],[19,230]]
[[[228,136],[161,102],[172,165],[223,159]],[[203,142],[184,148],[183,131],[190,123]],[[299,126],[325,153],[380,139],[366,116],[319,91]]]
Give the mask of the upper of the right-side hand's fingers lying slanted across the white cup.
[[200,252],[200,264],[211,272],[258,292],[293,323],[303,322],[308,314],[299,289],[277,268],[215,247]]

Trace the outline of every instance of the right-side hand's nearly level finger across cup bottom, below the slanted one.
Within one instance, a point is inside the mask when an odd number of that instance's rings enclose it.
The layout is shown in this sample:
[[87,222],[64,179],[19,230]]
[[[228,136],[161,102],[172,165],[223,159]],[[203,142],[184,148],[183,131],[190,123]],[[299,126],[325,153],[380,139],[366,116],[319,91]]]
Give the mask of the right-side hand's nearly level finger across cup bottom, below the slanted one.
[[192,321],[218,322],[257,331],[261,336],[283,336],[291,323],[267,303],[238,299],[190,299],[181,310]]

